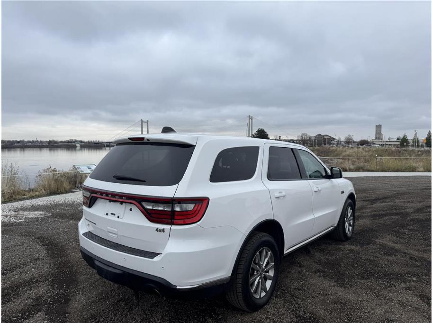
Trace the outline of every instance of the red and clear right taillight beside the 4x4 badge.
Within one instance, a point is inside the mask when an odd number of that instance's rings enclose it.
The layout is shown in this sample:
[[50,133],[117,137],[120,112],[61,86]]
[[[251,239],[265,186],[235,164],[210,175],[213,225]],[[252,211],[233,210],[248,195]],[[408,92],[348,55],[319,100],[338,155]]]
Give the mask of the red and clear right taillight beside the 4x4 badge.
[[208,198],[184,198],[172,201],[142,201],[141,205],[151,222],[186,225],[200,221],[208,203]]

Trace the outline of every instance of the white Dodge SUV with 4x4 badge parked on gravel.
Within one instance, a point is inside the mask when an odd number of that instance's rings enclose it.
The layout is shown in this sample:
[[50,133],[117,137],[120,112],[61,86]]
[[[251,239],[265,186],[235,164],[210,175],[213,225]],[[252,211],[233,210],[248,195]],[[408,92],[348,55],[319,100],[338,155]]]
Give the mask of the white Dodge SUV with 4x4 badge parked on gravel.
[[353,234],[340,168],[273,140],[160,133],[118,139],[83,185],[80,250],[105,279],[160,295],[267,304],[280,258]]

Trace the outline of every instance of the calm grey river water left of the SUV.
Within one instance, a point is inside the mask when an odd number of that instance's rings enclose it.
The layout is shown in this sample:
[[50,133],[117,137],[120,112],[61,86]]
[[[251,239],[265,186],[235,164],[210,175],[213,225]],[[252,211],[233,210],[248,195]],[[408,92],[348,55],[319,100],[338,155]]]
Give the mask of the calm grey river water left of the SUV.
[[[109,148],[14,148],[1,149],[2,163],[19,167],[26,174],[29,184],[35,182],[38,171],[49,166],[68,171],[73,165],[96,164],[109,152]],[[2,174],[3,175],[3,174]]]

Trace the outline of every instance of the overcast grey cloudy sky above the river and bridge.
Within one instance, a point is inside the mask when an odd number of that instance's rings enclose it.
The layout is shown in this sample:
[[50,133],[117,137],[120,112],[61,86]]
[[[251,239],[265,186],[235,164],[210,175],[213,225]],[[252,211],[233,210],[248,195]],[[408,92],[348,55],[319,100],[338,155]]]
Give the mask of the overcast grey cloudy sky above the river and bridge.
[[3,1],[2,138],[424,137],[430,49],[429,2]]

